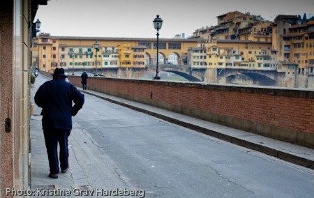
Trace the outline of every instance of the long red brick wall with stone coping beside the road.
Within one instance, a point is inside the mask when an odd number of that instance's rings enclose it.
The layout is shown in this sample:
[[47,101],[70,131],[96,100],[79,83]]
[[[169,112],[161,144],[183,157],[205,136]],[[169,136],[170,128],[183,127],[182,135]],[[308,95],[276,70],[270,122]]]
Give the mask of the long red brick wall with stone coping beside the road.
[[[71,77],[78,86],[80,77]],[[314,148],[314,91],[90,77],[88,89]]]

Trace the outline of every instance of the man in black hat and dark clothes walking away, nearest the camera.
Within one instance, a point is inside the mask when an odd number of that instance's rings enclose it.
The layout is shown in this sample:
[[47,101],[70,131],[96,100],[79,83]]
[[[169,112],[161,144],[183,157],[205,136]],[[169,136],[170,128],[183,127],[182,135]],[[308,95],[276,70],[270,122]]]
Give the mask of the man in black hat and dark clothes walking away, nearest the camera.
[[[43,108],[42,125],[50,167],[50,178],[58,178],[60,167],[65,173],[68,168],[68,136],[72,130],[72,116],[83,107],[84,95],[73,84],[66,82],[63,68],[56,68],[53,79],[42,84],[35,94],[35,102]],[[72,106],[72,102],[74,105]]]

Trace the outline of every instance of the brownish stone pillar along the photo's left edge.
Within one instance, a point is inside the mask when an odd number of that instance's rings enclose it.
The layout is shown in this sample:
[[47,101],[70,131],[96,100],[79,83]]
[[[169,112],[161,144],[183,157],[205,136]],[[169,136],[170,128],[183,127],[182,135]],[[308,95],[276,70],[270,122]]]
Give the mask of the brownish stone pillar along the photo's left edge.
[[[0,6],[0,197],[14,185],[13,127],[13,1]],[[6,131],[5,121],[10,120]]]

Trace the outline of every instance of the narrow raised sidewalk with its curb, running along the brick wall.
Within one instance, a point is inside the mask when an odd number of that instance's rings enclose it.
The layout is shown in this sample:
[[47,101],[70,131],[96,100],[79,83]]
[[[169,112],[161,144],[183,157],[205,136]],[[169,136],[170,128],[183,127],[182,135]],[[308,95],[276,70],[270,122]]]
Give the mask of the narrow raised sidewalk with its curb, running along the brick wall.
[[271,139],[261,135],[256,135],[243,130],[229,128],[227,126],[211,123],[209,121],[195,119],[190,116],[185,116],[167,111],[165,109],[144,105],[140,102],[133,102],[123,98],[117,98],[105,93],[99,93],[90,90],[83,91],[82,89],[80,89],[80,91],[118,105],[123,105],[124,107],[128,107],[130,109],[135,109],[139,112],[144,112],[145,114],[149,114],[151,116],[156,116],[159,119],[170,121],[192,130],[197,130],[218,139],[223,139],[233,144],[251,148],[255,151],[260,151],[261,153],[280,158],[281,160],[314,169],[314,149]]

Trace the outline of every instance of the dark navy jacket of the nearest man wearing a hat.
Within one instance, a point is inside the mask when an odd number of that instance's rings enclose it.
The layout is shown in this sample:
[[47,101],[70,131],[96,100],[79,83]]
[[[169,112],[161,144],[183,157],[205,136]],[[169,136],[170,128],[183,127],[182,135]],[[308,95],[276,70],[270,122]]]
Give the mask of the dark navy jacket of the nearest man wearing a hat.
[[39,87],[35,94],[35,103],[43,108],[41,114],[44,130],[72,130],[72,116],[83,107],[84,94],[64,78],[54,78]]

